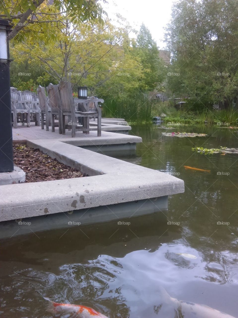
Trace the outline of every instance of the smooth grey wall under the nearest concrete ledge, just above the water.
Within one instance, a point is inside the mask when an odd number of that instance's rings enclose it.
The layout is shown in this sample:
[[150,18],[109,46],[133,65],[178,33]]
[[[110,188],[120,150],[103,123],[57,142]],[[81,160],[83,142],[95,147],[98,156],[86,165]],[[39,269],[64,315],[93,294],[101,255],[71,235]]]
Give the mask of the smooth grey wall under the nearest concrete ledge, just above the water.
[[[167,210],[168,197],[139,200],[96,208],[55,213],[37,217],[0,222],[0,239],[22,234],[32,234],[46,230],[55,230],[115,220],[120,225],[133,223],[133,217]],[[166,214],[163,212],[164,216]],[[47,218],[46,218],[47,217]],[[40,234],[39,234],[40,235]]]

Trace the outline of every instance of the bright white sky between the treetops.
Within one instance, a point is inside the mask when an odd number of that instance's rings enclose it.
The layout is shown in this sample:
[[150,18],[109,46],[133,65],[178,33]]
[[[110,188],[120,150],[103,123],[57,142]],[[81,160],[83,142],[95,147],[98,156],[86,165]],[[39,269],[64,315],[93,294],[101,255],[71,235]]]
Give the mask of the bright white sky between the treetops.
[[[174,0],[107,0],[107,2],[108,4],[103,4],[103,8],[109,18],[113,20],[115,13],[120,13],[138,31],[140,25],[144,23],[159,48],[165,48],[163,27],[170,20]],[[135,38],[136,35],[130,34],[130,37]]]

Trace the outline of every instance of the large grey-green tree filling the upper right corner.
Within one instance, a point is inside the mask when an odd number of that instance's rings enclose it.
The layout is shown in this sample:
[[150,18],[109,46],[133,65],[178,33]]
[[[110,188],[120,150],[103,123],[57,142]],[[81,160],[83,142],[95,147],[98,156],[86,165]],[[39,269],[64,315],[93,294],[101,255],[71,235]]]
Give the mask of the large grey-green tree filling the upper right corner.
[[[228,109],[238,86],[238,2],[180,0],[167,27],[172,54],[168,86],[178,96],[193,98],[190,110],[212,103]],[[190,103],[190,102],[189,102]]]

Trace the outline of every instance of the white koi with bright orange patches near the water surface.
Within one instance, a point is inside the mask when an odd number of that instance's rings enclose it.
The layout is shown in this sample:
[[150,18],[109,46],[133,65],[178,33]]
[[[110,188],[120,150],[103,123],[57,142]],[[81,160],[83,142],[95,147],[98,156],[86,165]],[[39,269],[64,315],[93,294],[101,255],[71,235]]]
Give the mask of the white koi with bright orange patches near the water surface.
[[86,306],[59,304],[58,302],[51,301],[49,298],[43,298],[50,302],[48,312],[54,314],[56,317],[67,315],[67,317],[70,318],[108,318],[105,315],[100,314],[96,310]]

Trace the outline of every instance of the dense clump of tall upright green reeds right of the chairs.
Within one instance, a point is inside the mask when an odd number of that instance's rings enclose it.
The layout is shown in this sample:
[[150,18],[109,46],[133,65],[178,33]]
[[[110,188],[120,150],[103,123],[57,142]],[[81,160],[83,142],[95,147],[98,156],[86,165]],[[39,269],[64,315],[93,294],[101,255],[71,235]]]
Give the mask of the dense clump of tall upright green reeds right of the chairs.
[[102,105],[103,117],[125,118],[131,123],[151,122],[155,114],[153,102],[143,93],[105,99]]

